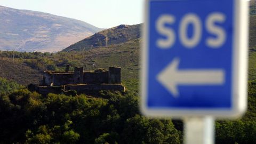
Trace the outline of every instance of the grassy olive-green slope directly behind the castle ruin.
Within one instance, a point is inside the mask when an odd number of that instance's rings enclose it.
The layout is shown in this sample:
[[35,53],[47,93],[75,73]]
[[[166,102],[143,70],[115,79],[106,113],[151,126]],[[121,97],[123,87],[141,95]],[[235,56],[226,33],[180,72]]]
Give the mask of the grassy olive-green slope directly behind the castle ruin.
[[[85,70],[95,70],[117,66],[122,68],[122,82],[137,90],[139,71],[139,43],[140,39],[133,39],[124,44],[99,47],[82,52],[58,52],[40,59],[0,59],[2,70],[0,76],[13,79],[20,84],[38,83],[43,70],[48,65],[57,66],[57,70],[64,70],[67,63],[70,66],[84,67]],[[11,52],[9,52],[11,53]],[[2,56],[3,57],[3,56]],[[29,67],[27,61],[38,63],[39,67]],[[72,70],[73,67],[71,67]]]

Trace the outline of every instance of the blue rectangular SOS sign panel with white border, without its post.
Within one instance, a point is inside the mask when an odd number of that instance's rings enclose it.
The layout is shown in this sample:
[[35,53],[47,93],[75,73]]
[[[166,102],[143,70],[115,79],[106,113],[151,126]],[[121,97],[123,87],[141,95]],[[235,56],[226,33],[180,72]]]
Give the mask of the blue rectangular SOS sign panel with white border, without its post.
[[242,1],[146,1],[145,115],[225,117],[245,111],[247,5]]

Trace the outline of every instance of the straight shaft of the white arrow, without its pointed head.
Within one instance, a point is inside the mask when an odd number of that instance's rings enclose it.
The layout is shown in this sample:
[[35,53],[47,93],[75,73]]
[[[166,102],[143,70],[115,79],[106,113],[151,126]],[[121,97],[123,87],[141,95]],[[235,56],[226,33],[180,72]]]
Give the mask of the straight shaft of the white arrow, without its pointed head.
[[223,70],[179,70],[175,81],[180,84],[201,85],[201,84],[223,84],[225,73]]

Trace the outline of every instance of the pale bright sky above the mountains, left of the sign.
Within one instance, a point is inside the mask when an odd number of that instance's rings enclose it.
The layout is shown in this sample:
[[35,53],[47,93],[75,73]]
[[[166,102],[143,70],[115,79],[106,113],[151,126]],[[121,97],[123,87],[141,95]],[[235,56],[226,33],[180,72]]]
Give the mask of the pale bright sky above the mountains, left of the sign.
[[47,12],[88,22],[100,28],[142,22],[144,0],[1,0],[14,9]]

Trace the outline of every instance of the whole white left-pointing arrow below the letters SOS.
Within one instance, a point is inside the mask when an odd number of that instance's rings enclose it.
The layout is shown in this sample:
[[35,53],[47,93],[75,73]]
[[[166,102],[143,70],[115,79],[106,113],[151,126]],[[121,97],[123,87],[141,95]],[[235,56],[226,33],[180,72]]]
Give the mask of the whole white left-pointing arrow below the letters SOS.
[[225,72],[222,69],[179,70],[179,58],[175,58],[157,75],[157,80],[173,95],[179,96],[178,85],[222,85]]

